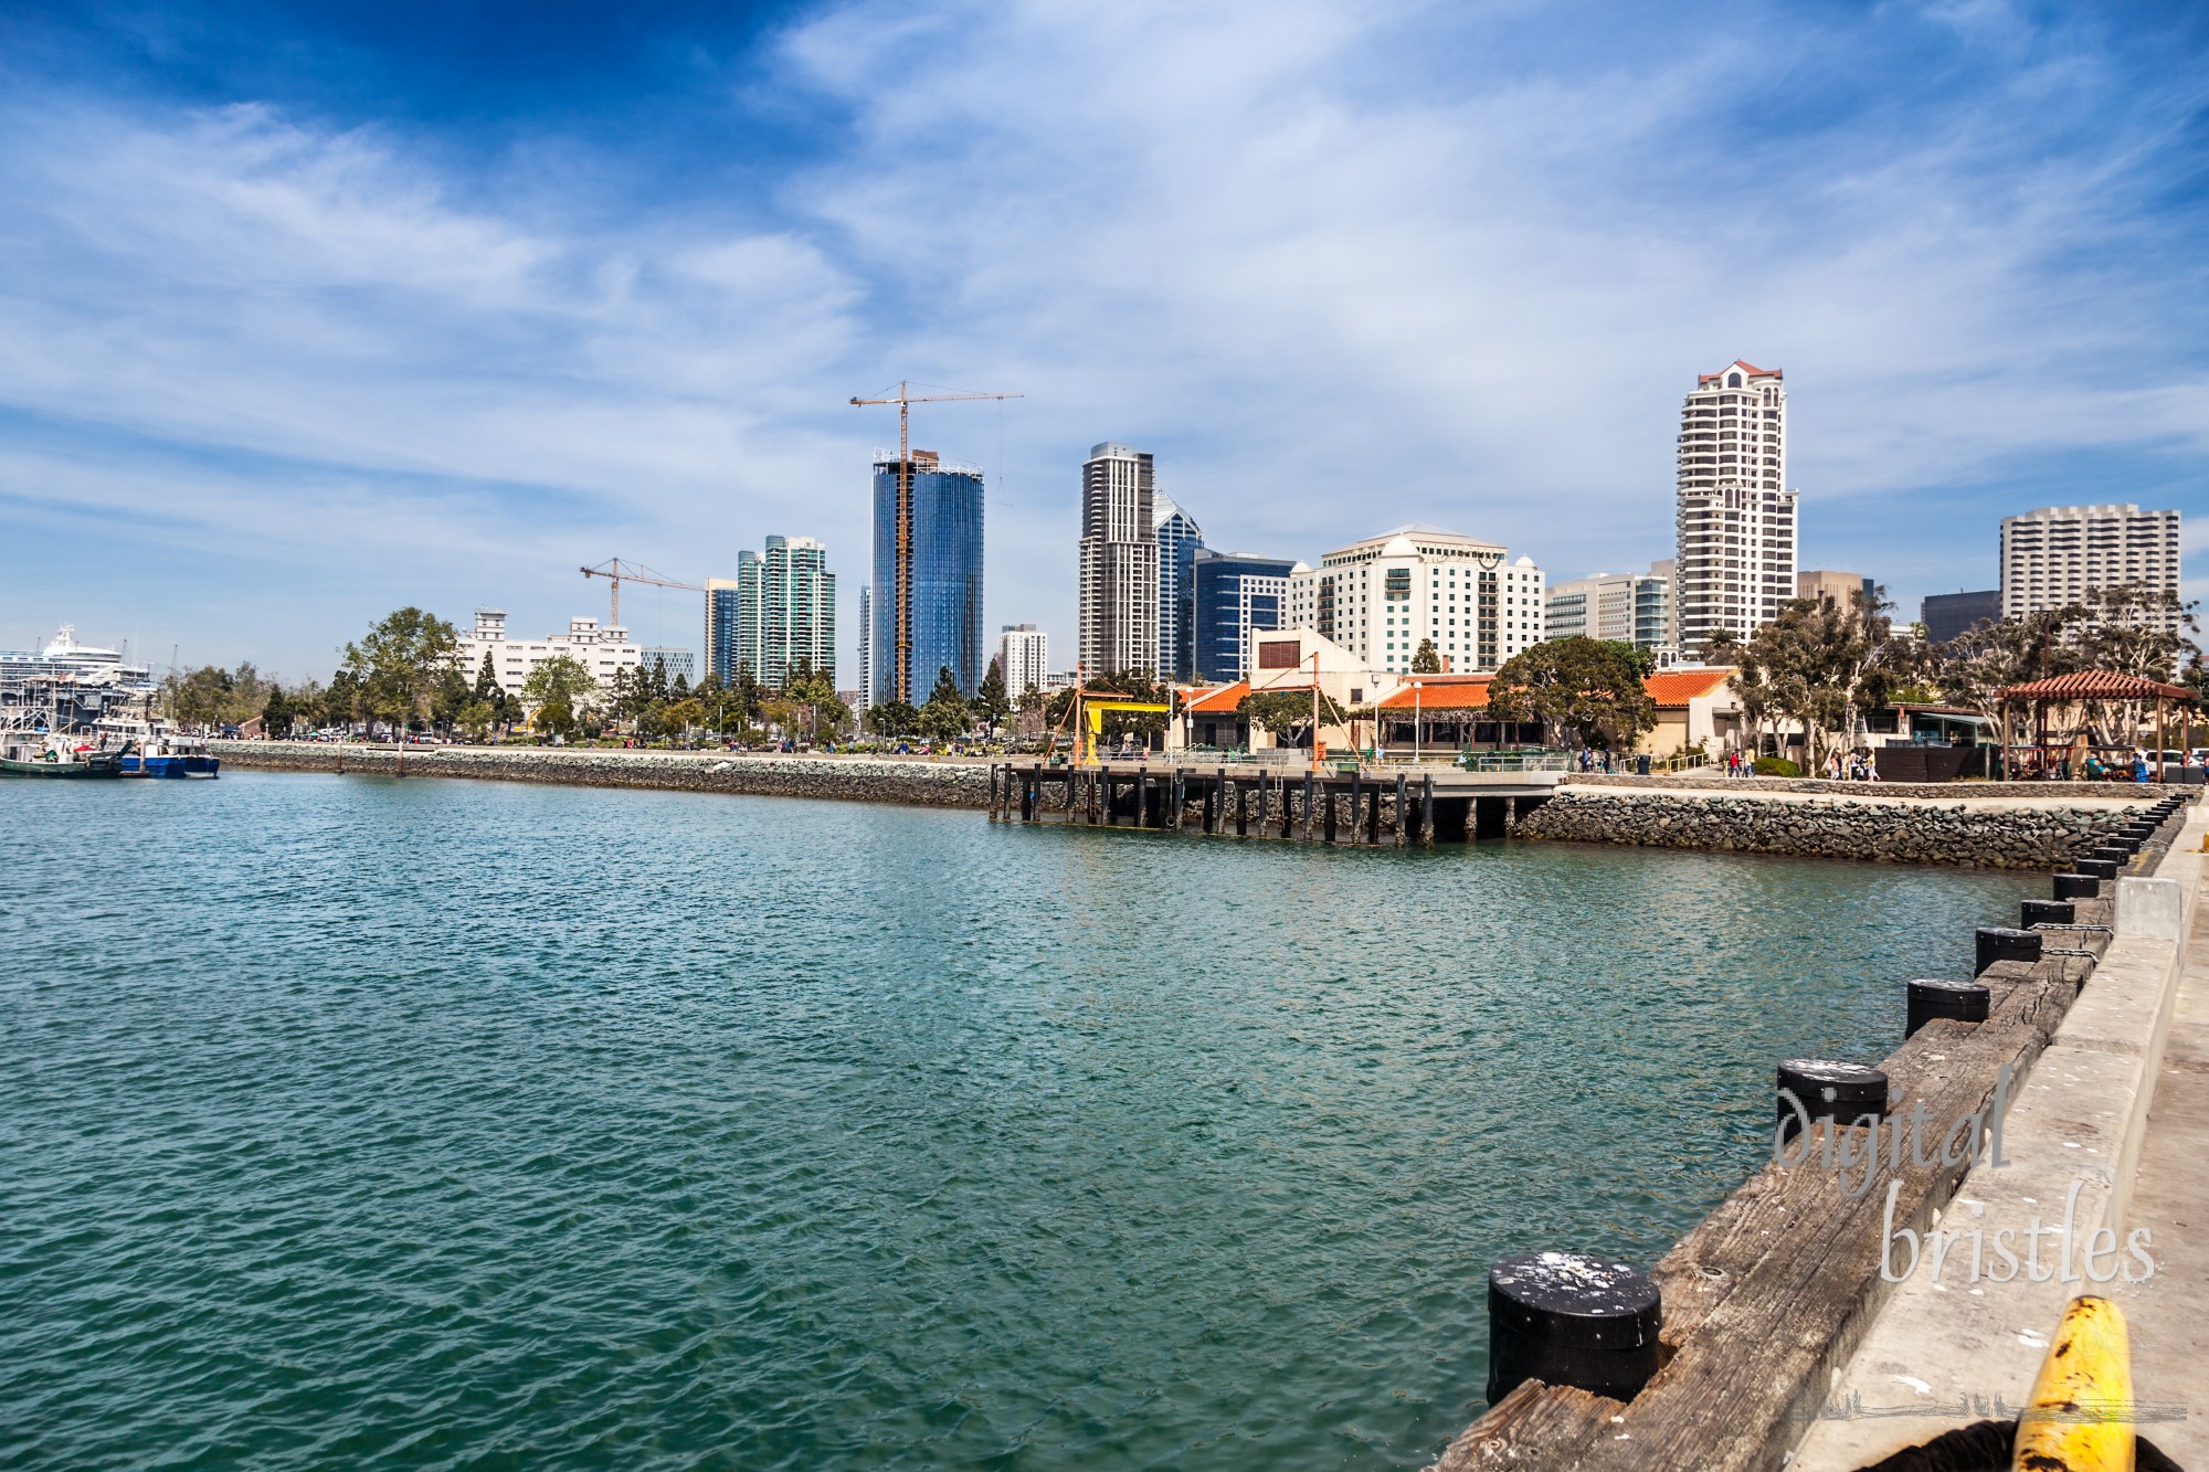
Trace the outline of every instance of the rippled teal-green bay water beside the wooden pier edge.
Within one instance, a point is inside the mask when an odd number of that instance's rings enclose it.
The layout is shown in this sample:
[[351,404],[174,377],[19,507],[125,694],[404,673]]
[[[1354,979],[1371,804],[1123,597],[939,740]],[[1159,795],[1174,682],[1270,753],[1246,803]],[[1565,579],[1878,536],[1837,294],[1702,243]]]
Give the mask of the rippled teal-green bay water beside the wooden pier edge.
[[[0,785],[0,1461],[1420,1465],[2026,875]],[[1893,926],[1895,917],[1906,924]]]

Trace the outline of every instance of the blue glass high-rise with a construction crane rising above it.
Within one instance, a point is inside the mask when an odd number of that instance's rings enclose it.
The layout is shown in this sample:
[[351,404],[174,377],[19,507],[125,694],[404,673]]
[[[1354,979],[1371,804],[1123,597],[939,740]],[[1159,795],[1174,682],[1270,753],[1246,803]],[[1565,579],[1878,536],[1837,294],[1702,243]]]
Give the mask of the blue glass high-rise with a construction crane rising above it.
[[934,451],[875,455],[875,705],[921,705],[950,670],[974,698],[987,667],[981,639],[981,466]]

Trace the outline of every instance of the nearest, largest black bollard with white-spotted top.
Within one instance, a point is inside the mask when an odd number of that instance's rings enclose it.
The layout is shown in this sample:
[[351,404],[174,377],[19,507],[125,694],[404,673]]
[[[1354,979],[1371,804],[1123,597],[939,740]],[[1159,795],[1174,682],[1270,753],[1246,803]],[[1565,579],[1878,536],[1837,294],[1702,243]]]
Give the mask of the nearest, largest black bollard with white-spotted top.
[[1489,1406],[1520,1384],[1630,1401],[1657,1373],[1663,1304],[1624,1262],[1522,1253],[1489,1269]]

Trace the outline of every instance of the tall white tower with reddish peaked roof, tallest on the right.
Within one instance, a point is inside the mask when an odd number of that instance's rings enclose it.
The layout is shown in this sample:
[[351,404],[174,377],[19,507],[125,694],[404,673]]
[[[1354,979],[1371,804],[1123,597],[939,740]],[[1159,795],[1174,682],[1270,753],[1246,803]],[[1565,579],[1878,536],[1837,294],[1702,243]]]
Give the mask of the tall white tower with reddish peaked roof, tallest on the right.
[[1747,637],[1796,597],[1796,502],[1787,488],[1787,387],[1738,358],[1697,378],[1679,416],[1679,643]]

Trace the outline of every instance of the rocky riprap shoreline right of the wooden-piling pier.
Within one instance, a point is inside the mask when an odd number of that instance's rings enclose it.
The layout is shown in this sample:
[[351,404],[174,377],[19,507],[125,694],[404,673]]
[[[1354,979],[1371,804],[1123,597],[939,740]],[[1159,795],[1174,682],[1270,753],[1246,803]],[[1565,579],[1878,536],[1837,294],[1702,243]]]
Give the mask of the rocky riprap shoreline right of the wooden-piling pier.
[[[1758,782],[1761,787],[1761,782]],[[1977,793],[1973,793],[1977,796]],[[1957,802],[1924,798],[1800,800],[1699,791],[1602,791],[1568,785],[1518,822],[1524,838],[1805,858],[2057,869],[2132,820],[2132,805]],[[2096,798],[2132,796],[2094,791]]]

